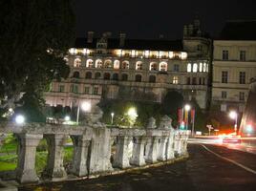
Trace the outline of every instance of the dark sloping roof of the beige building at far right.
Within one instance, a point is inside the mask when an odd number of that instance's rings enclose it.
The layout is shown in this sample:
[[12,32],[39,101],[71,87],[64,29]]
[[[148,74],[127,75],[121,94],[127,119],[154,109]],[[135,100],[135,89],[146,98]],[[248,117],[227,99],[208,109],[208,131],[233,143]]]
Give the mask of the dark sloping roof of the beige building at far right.
[[256,20],[227,21],[217,40],[256,40]]

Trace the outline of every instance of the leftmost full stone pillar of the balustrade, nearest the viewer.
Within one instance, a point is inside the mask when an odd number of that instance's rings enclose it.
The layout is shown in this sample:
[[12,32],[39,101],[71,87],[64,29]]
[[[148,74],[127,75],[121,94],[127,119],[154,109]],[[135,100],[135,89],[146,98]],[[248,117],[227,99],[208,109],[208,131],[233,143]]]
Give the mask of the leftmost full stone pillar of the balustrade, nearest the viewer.
[[18,138],[18,164],[16,178],[21,183],[39,180],[35,172],[36,146],[43,135],[16,134]]

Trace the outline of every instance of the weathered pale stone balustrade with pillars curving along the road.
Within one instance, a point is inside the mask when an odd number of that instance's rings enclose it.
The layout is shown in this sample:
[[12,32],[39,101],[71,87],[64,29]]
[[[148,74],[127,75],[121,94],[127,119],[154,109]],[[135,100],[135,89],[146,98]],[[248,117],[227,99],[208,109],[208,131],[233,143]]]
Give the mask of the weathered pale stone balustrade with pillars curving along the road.
[[[165,124],[160,123],[160,128],[155,124],[152,128],[107,128],[101,123],[84,126],[1,123],[0,133],[13,133],[17,137],[15,172],[16,179],[23,183],[38,180],[35,152],[42,138],[48,143],[47,165],[41,176],[46,180],[65,180],[67,174],[85,177],[185,156],[189,132]],[[63,148],[69,137],[73,140],[74,155],[71,167],[65,169]]]

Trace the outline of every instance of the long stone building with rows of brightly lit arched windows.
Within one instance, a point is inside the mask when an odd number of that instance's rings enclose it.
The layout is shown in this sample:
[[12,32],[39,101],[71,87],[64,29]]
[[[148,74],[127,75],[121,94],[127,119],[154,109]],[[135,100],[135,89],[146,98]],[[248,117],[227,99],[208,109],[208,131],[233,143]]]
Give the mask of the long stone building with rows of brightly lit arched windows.
[[77,106],[96,104],[101,98],[160,102],[168,91],[185,100],[195,97],[201,108],[209,104],[211,40],[204,37],[200,21],[184,26],[183,39],[127,39],[121,32],[112,38],[105,32],[96,38],[78,38],[66,56],[69,78],[53,81],[45,94],[47,104]]

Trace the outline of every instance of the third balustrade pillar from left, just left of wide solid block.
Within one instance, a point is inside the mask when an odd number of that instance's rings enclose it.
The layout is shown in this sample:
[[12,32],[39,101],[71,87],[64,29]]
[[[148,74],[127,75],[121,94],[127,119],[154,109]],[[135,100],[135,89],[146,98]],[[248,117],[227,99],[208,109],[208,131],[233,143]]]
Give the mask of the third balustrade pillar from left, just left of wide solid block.
[[70,173],[84,177],[88,175],[88,150],[90,147],[90,139],[85,136],[71,136],[74,145],[74,155],[72,168]]

